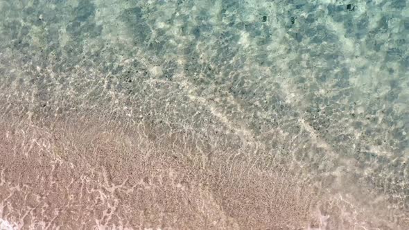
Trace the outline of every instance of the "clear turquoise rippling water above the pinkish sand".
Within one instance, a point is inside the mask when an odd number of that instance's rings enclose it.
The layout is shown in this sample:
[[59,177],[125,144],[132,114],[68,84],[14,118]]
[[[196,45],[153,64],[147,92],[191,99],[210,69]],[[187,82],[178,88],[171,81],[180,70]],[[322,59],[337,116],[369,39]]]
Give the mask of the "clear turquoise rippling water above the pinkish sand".
[[197,146],[272,154],[348,210],[323,202],[321,229],[409,228],[406,1],[0,0],[0,12],[3,118],[184,130]]

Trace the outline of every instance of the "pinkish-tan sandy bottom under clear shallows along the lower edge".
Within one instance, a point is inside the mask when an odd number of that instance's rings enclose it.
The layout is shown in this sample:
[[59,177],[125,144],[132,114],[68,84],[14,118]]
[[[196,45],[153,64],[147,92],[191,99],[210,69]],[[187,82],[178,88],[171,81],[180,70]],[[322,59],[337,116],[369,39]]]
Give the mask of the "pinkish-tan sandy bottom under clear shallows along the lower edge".
[[331,193],[303,179],[308,172],[289,159],[251,146],[202,145],[186,132],[124,127],[98,116],[0,124],[6,229],[408,226],[398,213],[388,222],[385,204]]

